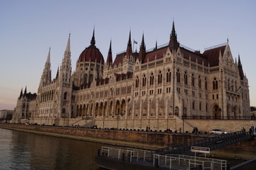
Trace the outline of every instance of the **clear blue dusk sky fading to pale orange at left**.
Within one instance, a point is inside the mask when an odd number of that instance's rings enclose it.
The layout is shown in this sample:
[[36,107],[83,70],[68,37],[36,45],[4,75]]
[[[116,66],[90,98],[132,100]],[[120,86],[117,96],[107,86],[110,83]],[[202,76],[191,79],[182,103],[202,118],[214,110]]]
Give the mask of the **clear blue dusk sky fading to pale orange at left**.
[[[55,78],[70,35],[72,69],[90,45],[107,58],[126,50],[129,30],[146,49],[169,42],[174,20],[178,41],[193,50],[229,40],[233,58],[249,80],[250,106],[256,106],[256,1],[63,1],[0,0],[0,110],[14,109],[21,88],[37,93],[50,50]],[[113,58],[114,60],[114,58]]]

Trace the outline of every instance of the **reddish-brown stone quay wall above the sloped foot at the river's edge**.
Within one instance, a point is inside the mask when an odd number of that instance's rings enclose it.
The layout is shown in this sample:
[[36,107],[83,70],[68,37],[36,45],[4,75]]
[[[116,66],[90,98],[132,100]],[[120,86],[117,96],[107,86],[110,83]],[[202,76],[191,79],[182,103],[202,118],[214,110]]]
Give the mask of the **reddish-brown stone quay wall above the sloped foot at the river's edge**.
[[22,130],[33,130],[36,132],[50,132],[60,135],[79,136],[79,137],[97,137],[108,140],[122,140],[127,142],[138,142],[147,145],[168,146],[193,140],[201,140],[202,135],[188,135],[180,133],[165,132],[142,132],[132,130],[100,130],[85,128],[63,128],[41,125],[18,125],[18,124],[0,124],[0,128],[12,128]]

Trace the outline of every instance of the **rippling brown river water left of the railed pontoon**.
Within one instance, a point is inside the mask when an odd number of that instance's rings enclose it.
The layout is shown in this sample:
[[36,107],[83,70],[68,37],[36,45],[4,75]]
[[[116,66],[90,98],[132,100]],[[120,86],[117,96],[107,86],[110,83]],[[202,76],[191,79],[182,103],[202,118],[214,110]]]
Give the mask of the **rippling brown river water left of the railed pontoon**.
[[0,129],[0,169],[98,169],[102,145]]

